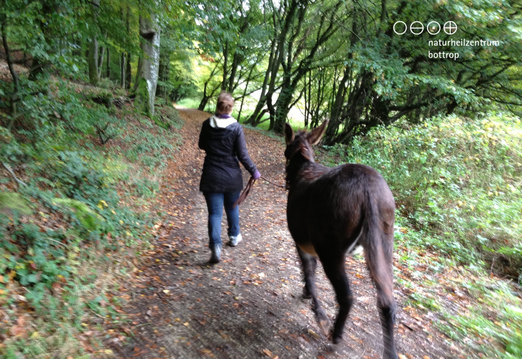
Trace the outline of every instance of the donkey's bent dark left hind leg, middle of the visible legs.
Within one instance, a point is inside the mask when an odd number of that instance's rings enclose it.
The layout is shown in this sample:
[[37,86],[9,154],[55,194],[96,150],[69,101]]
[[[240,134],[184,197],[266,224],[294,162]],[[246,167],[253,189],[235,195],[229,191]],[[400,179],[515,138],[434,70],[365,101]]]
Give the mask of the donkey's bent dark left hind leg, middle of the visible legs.
[[321,262],[326,276],[334,287],[337,303],[339,303],[339,313],[335,319],[334,332],[332,333],[332,341],[337,344],[342,340],[342,332],[345,330],[346,318],[348,318],[348,313],[350,313],[353,304],[353,296],[346,276],[345,256],[321,257]]

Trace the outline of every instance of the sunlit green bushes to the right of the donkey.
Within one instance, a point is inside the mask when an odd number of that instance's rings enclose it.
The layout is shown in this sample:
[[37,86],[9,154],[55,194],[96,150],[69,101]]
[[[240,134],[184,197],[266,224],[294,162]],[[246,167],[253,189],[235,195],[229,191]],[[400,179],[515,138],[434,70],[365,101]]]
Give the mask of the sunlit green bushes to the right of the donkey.
[[399,221],[414,230],[399,234],[401,240],[464,262],[504,257],[506,269],[519,273],[521,128],[519,119],[494,113],[381,127],[350,146],[326,147],[327,161],[364,163],[382,173]]

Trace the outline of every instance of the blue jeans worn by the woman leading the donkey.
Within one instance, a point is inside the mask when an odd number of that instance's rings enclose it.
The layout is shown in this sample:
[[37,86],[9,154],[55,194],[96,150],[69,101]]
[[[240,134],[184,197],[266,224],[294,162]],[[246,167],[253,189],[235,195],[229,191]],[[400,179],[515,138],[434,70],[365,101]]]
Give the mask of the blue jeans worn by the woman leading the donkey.
[[240,192],[212,193],[204,192],[208,209],[208,237],[209,246],[221,245],[221,217],[223,217],[223,204],[227,213],[228,235],[239,234],[239,206],[232,208],[238,200]]

